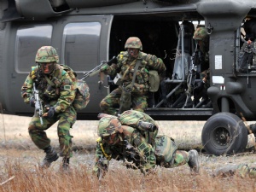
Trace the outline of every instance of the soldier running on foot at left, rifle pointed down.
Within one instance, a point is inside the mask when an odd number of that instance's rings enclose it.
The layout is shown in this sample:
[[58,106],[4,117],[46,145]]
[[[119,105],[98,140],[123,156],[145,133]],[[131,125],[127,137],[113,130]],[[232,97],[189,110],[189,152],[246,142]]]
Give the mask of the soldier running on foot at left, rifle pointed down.
[[[72,105],[76,87],[63,67],[57,64],[59,56],[55,48],[41,47],[38,49],[35,61],[38,66],[32,67],[32,72],[26,77],[26,81],[21,87],[21,96],[24,102],[35,108],[33,89],[36,88],[44,113],[41,117],[38,116],[38,113],[33,115],[28,132],[32,142],[46,153],[40,166],[47,168],[59,156],[51,147],[45,130],[59,120],[57,131],[61,148],[60,156],[63,157],[62,167],[67,170],[69,158],[72,157],[72,136],[69,130],[77,118],[76,110]],[[40,123],[40,118],[43,119],[42,123]]]

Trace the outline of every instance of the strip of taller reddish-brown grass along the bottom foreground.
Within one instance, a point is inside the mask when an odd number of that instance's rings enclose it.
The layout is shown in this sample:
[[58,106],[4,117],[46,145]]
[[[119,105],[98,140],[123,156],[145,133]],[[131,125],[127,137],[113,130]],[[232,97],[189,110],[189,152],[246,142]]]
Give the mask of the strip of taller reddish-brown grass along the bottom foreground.
[[[8,180],[9,179],[9,180]],[[5,182],[6,183],[3,183]],[[0,175],[0,191],[256,191],[255,179],[211,177],[201,171],[191,175],[187,167],[158,168],[155,174],[144,177],[138,171],[113,167],[101,182],[92,174],[90,166],[73,166],[70,172],[49,168],[40,170],[22,160],[4,163]]]

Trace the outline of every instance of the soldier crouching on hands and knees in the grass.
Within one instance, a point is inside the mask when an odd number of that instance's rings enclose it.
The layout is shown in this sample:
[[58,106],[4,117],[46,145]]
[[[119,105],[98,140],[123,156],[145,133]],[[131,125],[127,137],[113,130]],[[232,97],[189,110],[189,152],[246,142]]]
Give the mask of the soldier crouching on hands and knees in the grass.
[[196,150],[186,152],[174,149],[170,162],[159,162],[159,159],[156,158],[155,149],[148,144],[143,134],[134,127],[121,125],[116,116],[103,116],[99,120],[97,131],[99,138],[96,141],[96,164],[93,172],[98,177],[102,167],[105,167],[105,173],[108,171],[108,164],[111,159],[123,160],[127,168],[139,169],[143,174],[153,171],[156,163],[166,168],[188,163],[192,172],[199,172]]

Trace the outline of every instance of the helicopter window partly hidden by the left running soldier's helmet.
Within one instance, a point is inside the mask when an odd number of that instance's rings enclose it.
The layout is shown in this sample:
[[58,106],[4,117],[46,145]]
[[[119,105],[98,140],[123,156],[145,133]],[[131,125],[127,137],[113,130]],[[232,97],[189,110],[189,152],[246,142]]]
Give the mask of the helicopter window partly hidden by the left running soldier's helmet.
[[35,61],[38,48],[51,44],[53,26],[20,26],[15,41],[15,70],[17,73],[29,73],[31,61]]

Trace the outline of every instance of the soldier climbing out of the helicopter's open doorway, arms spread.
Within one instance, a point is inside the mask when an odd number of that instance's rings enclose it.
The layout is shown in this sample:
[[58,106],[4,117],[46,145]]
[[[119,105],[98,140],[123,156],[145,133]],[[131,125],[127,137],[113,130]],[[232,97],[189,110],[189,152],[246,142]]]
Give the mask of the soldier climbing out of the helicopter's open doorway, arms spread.
[[[142,52],[143,44],[139,38],[128,38],[125,49],[126,51],[120,52],[117,56],[117,63],[103,66],[101,69],[102,73],[110,76],[120,73],[122,82],[100,103],[103,113],[117,114],[116,108],[120,104],[120,97],[124,90],[131,93],[131,102],[128,102],[129,107],[126,110],[130,109],[132,104],[134,110],[143,112],[148,107],[148,70],[156,70],[160,76],[164,76],[166,72],[166,66],[160,58]],[[136,70],[137,64],[139,67]],[[135,79],[133,78],[134,73],[136,73]]]

